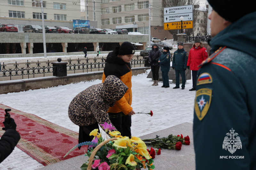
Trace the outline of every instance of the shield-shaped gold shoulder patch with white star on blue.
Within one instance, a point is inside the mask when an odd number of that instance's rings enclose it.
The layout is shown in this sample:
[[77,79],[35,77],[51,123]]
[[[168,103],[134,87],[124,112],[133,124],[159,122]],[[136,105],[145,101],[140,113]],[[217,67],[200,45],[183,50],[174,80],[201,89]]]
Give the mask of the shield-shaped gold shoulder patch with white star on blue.
[[208,88],[196,91],[195,112],[197,118],[201,121],[207,114],[212,100],[212,90]]

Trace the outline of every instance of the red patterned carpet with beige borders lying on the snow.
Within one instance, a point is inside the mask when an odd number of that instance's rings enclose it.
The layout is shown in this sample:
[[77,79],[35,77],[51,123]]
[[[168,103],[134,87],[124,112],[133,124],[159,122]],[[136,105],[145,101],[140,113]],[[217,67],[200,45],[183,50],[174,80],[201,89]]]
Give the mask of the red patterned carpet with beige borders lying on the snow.
[[[4,109],[6,108],[11,107],[0,104],[0,136],[4,134],[2,127],[4,127]],[[9,113],[16,122],[17,131],[21,137],[17,147],[44,166],[82,155],[87,151],[86,146],[83,146],[81,150],[76,148],[63,158],[71,148],[78,144],[78,133],[36,115],[11,109]]]

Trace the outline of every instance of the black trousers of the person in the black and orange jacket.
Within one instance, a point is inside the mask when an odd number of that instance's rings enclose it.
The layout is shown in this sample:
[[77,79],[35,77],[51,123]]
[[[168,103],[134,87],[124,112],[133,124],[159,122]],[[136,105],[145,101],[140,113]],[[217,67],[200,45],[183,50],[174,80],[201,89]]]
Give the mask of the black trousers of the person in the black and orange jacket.
[[108,113],[108,116],[111,123],[116,127],[122,136],[131,138],[132,116],[124,115],[123,112]]

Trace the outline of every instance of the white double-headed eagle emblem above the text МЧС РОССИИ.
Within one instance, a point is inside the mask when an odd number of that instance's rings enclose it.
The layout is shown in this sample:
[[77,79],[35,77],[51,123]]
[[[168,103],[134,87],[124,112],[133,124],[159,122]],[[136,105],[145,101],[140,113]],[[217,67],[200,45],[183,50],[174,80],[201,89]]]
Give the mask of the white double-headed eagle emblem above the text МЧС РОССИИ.
[[229,131],[230,133],[226,134],[227,137],[224,137],[222,149],[225,149],[225,150],[228,149],[228,151],[231,154],[233,154],[234,152],[236,152],[236,149],[242,149],[242,143],[241,143],[240,137],[236,137],[238,133],[234,133],[235,130],[233,130],[233,128]]

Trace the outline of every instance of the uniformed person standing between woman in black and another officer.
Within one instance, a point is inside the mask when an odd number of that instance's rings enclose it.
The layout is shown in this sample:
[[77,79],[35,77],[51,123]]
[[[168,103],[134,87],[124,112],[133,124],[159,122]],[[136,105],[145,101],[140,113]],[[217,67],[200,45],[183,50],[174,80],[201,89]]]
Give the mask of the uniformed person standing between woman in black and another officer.
[[170,87],[168,73],[171,67],[171,53],[170,53],[169,47],[164,46],[163,49],[164,49],[164,52],[162,53],[162,55],[158,60],[161,66],[162,79],[163,79],[163,85],[161,87],[168,88]]

